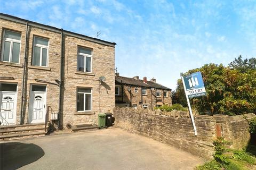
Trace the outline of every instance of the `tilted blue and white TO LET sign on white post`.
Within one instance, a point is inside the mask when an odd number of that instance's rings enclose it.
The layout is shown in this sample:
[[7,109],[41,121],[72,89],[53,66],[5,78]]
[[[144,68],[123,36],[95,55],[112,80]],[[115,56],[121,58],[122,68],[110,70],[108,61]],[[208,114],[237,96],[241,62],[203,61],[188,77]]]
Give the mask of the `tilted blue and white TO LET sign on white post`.
[[189,98],[206,95],[202,74],[201,72],[196,72],[193,74],[185,75],[184,77],[181,77],[181,79],[188,102],[189,114],[191,117],[195,135],[197,136],[196,125],[194,121],[194,116],[192,114],[192,109],[189,103]]

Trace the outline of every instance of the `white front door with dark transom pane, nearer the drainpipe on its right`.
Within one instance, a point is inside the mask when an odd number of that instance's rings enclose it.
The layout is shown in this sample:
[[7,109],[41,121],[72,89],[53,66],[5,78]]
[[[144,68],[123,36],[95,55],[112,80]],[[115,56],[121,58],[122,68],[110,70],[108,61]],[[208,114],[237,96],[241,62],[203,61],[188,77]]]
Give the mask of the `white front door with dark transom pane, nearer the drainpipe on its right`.
[[[31,91],[30,91],[28,122],[43,123],[45,122],[45,114],[46,114],[45,86],[38,86],[38,85],[32,85],[32,86],[36,86],[36,87],[31,88]],[[35,90],[41,90],[41,91],[35,91]]]

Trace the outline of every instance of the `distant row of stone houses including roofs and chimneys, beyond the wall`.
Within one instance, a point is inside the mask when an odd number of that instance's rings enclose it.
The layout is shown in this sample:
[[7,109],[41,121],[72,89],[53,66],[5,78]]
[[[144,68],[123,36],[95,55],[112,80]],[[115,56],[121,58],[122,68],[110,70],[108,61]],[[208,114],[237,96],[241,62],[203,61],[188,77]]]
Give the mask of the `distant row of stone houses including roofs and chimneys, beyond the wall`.
[[115,80],[116,106],[153,109],[172,105],[172,90],[156,83],[154,78],[140,80],[138,76],[127,78],[116,73]]

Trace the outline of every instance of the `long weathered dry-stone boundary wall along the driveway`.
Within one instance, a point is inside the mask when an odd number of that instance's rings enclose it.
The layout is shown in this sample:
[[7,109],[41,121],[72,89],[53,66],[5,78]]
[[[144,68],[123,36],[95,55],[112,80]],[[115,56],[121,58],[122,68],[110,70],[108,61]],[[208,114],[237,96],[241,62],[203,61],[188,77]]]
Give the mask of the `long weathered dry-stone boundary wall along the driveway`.
[[[194,113],[197,136],[188,112],[114,108],[115,125],[119,128],[145,135],[206,159],[211,159],[214,153],[213,141],[217,139],[217,124],[222,125],[223,138],[233,140],[230,148],[244,147],[249,140],[248,126],[243,126],[246,120],[241,116],[207,116]],[[250,119],[255,115],[245,116]]]

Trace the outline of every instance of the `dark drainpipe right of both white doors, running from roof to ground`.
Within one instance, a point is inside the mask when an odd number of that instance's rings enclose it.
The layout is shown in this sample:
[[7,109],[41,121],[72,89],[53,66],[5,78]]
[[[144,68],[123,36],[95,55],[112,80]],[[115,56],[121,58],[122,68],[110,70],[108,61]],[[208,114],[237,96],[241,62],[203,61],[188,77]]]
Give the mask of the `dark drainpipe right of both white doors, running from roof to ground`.
[[61,51],[60,51],[60,95],[59,95],[59,121],[58,121],[58,129],[62,129],[62,115],[61,115],[61,92],[62,92],[62,65],[63,65],[63,29],[61,28]]

